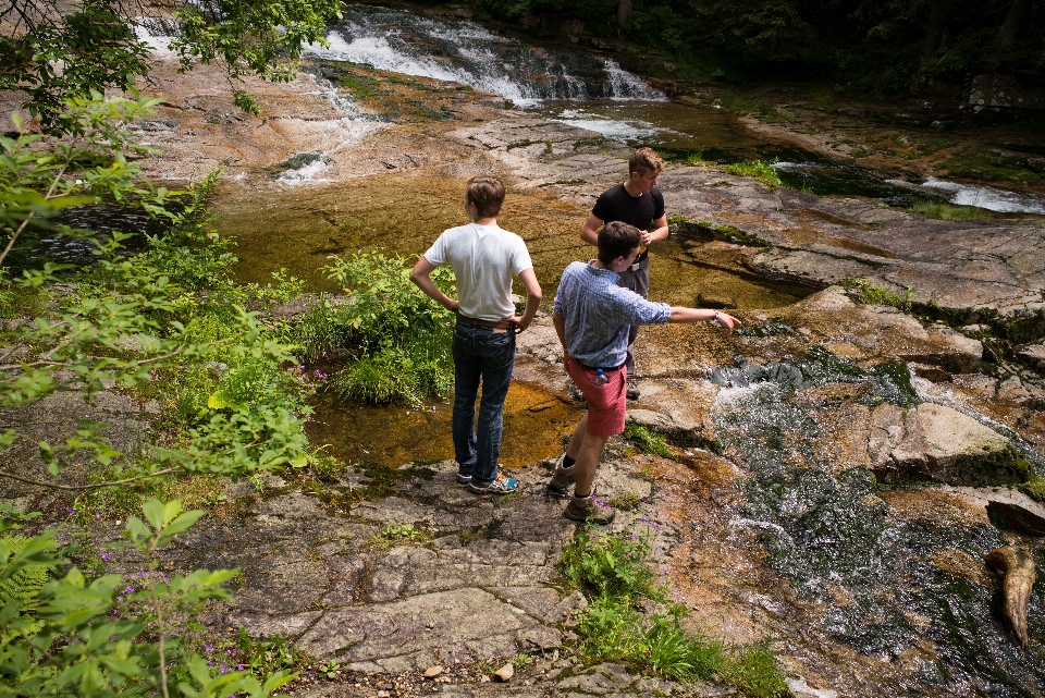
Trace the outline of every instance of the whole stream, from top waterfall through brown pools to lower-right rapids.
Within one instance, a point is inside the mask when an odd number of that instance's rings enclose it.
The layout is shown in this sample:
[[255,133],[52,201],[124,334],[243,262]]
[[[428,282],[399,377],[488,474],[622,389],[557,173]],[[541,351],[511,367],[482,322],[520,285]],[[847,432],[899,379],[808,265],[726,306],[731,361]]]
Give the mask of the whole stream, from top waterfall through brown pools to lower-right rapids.
[[[608,58],[526,46],[474,22],[347,5],[328,39],[328,48],[311,49],[319,61],[352,61],[471,85],[544,119],[628,146],[651,146],[675,159],[767,160],[787,186],[820,196],[860,196],[900,207],[946,200],[999,212],[1045,213],[1041,197],[924,180],[766,143],[711,106],[667,101]],[[382,127],[372,115],[354,110],[343,91],[330,91],[332,100],[344,105],[346,125],[324,147],[348,147]],[[220,231],[238,243],[242,281],[265,283],[272,271],[286,269],[312,291],[337,291],[322,274],[329,255],[382,250],[413,259],[440,231],[463,222],[464,189],[457,180],[389,173],[327,183],[324,167],[320,152],[282,181],[222,185],[216,205]],[[672,203],[667,206],[671,215]],[[545,302],[566,264],[590,256],[578,236],[585,216],[579,207],[541,191],[508,197],[500,222],[526,240]],[[692,305],[701,297],[727,296],[741,310],[772,316],[810,292],[711,269],[685,253],[686,242],[676,240],[651,249],[652,298]],[[763,327],[783,326],[767,321]],[[696,350],[681,343],[677,348],[679,364],[697,365]],[[740,363],[714,370],[721,378]],[[820,685],[838,691],[825,691],[824,698],[1045,695],[1042,548],[1035,553],[1038,576],[1029,609],[1031,648],[1023,650],[1005,628],[997,586],[980,562],[984,552],[1010,542],[1006,535],[983,519],[933,511],[937,500],[932,490],[880,488],[864,467],[825,455],[825,441],[841,441],[855,428],[847,409],[857,414],[882,403],[906,409],[929,399],[906,365],[858,366],[826,351],[796,351],[787,352],[775,372],[759,381],[720,384],[710,418],[723,453],[742,463],[746,473],[730,486],[739,501],[720,507],[734,531],[725,542],[750,544],[759,551],[764,574],[775,575],[762,577],[760,608],[777,633],[775,641],[807,658],[826,682]],[[548,388],[513,384],[505,466],[556,455],[558,436],[579,415],[577,403]],[[331,443],[346,462],[396,467],[452,453],[446,400],[372,407],[324,399],[317,405],[310,436],[317,443]],[[1041,474],[1042,457],[1020,448]],[[910,505],[912,500],[919,505]],[[680,528],[689,527],[693,539],[700,524],[678,522]],[[737,587],[757,584],[734,574],[724,576]],[[755,603],[733,601],[738,607]],[[850,675],[856,669],[862,671],[859,679]]]

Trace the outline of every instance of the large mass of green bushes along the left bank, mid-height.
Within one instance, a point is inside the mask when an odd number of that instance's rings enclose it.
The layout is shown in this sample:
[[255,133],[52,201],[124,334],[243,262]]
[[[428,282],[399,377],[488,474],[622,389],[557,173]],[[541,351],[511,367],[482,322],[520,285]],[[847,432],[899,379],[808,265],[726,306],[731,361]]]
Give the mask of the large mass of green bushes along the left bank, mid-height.
[[[135,203],[172,224],[170,234],[150,237],[147,249],[131,257],[122,254],[124,233],[93,237],[65,231],[95,245],[94,265],[76,271],[51,262],[23,265],[12,285],[23,294],[49,295],[49,303],[39,305],[30,321],[0,331],[7,345],[0,406],[22,408],[54,392],[90,393],[113,384],[144,395],[152,391],[176,406],[182,448],[149,444],[142,457],[128,458],[108,444],[104,425],[82,423],[64,443],[40,443],[52,475],[77,453],[114,468],[124,483],[174,472],[236,477],[304,464],[307,387],[279,370],[292,360],[291,347],[243,309],[250,290],[225,275],[233,258],[228,242],[210,230],[212,215],[204,200],[217,174],[190,189],[181,211],[171,213],[172,193],[142,185],[138,169],[121,155],[127,148],[126,121],[148,113],[153,102],[70,102],[69,113],[87,134],[76,145],[24,134],[0,140],[7,154],[0,158],[0,230],[7,236],[0,268],[27,231],[60,229],[51,223],[54,216],[85,200]],[[51,293],[58,287],[61,293]],[[199,294],[205,287],[208,293]],[[212,368],[219,365],[228,369],[220,376]],[[173,384],[186,390],[153,389],[157,378],[175,378]],[[9,430],[0,448],[17,437]]]

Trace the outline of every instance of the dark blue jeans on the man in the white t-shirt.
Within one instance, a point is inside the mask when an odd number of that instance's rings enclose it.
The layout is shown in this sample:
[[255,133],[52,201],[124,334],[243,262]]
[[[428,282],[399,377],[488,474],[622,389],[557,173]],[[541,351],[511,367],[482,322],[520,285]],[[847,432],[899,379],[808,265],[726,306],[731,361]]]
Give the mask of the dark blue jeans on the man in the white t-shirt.
[[[515,334],[458,322],[454,328],[454,452],[457,472],[472,482],[497,477],[504,399],[515,367]],[[482,381],[479,425],[476,396]]]

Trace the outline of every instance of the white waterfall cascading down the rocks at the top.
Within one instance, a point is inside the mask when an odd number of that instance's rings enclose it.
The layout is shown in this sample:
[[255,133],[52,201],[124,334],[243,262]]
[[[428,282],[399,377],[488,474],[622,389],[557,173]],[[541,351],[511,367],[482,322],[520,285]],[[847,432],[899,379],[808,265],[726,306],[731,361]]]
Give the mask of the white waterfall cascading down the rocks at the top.
[[666,99],[614,61],[530,48],[471,22],[444,22],[399,9],[347,5],[327,38],[330,47],[314,45],[314,56],[471,85],[518,105]]

